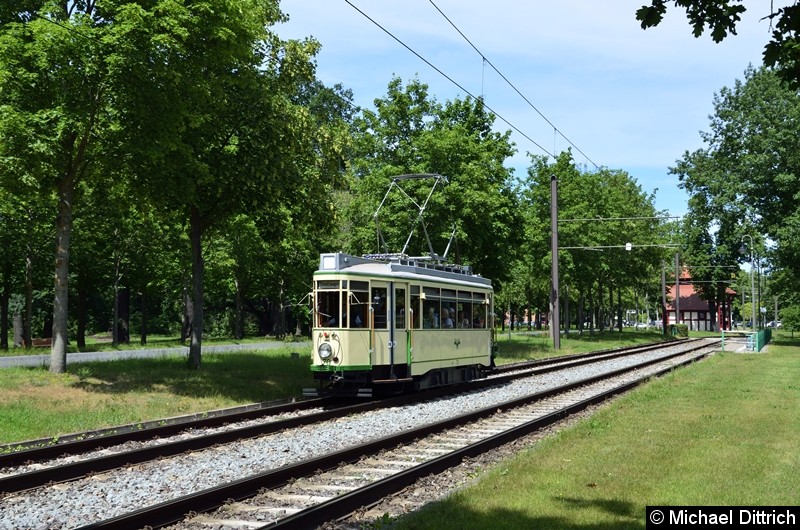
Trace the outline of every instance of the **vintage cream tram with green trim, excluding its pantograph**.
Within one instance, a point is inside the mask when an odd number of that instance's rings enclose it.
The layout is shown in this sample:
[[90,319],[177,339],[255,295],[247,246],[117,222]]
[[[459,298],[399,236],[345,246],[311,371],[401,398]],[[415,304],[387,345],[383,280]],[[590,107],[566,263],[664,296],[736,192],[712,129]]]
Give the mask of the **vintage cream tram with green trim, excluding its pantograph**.
[[319,391],[419,390],[480,378],[494,366],[492,283],[469,267],[322,254],[312,299]]

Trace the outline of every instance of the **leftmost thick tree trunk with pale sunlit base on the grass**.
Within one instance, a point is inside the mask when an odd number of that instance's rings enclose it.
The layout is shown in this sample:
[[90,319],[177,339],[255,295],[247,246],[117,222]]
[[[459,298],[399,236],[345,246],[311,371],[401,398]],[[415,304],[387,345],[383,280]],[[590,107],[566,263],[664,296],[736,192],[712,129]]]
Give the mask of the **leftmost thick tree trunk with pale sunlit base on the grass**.
[[67,318],[69,315],[69,244],[72,232],[73,179],[58,183],[58,216],[56,217],[56,265],[53,297],[53,341],[50,350],[50,371],[67,370]]

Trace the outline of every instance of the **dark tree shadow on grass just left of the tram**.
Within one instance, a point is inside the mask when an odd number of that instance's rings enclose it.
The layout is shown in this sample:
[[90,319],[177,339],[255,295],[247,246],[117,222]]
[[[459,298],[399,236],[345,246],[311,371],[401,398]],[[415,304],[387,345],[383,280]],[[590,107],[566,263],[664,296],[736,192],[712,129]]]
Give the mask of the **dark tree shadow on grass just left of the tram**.
[[261,402],[299,396],[314,386],[307,354],[284,351],[204,354],[199,370],[184,356],[121,359],[68,366],[75,387],[104,394],[157,393],[190,398],[222,396]]

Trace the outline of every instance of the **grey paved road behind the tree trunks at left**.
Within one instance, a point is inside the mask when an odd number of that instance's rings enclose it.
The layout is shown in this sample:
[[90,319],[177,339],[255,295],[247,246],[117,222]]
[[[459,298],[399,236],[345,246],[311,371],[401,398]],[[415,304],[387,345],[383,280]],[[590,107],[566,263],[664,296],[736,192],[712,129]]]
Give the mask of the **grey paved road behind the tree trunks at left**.
[[[286,346],[285,342],[256,342],[252,344],[223,344],[219,346],[203,346],[203,353],[224,353],[242,350],[269,350]],[[303,349],[302,343],[297,344]],[[188,356],[189,347],[159,348],[146,350],[119,350],[107,352],[79,352],[67,353],[67,364],[85,363],[89,361],[115,361],[119,359],[148,359],[153,357]],[[0,357],[0,368],[12,366],[50,366],[50,354],[43,355],[15,355]]]

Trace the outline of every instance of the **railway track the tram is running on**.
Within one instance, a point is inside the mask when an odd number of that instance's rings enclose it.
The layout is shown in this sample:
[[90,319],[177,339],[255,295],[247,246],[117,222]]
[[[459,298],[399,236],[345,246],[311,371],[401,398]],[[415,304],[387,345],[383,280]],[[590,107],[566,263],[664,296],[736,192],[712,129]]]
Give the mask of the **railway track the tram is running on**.
[[[547,373],[571,366],[580,366],[597,362],[599,359],[613,359],[634,353],[652,351],[659,347],[663,347],[663,343],[505,365],[498,367],[495,370],[495,374],[489,379],[381,401],[359,401],[356,404],[352,404],[352,401],[346,400],[315,398],[288,400],[281,403],[254,403],[231,409],[76,433],[61,436],[57,439],[46,438],[7,444],[0,446],[0,492],[19,491],[47,482],[69,480],[81,476],[81,473],[84,472],[113,469],[113,467],[119,465],[120,458],[124,459],[124,463],[144,462],[171,454],[179,454],[181,451],[199,450],[219,443],[268,434],[315,421],[324,421],[338,414],[365,412],[374,408],[401,405],[420,399],[436,398],[453,392],[463,392],[466,389],[485,388],[519,377]],[[237,425],[241,425],[241,427],[237,427]],[[219,429],[219,431],[208,432],[214,429]],[[160,440],[157,447],[143,447],[136,451],[129,449],[136,444],[156,439]],[[171,442],[171,439],[175,441]],[[117,451],[110,449],[113,447],[122,448],[119,452],[124,451],[126,456],[116,454],[118,453]],[[4,481],[2,478],[3,468],[12,468],[25,463],[44,462],[57,458],[68,459],[67,457],[69,456],[91,451],[98,452],[98,459],[104,458],[107,464],[104,467],[98,465],[95,468],[76,465],[71,468],[71,471],[65,468],[60,475],[50,475],[48,474],[49,472],[39,473],[38,476],[42,478],[34,479],[32,476],[30,480],[16,480],[13,488],[8,484],[8,481]],[[109,452],[115,454],[109,455]]]

